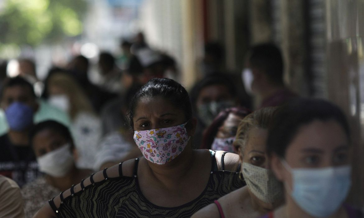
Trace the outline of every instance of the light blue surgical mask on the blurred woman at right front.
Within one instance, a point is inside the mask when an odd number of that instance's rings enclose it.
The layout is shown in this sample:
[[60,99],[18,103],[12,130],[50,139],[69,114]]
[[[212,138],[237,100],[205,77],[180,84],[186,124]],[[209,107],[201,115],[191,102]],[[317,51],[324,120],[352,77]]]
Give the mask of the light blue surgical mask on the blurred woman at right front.
[[351,187],[351,167],[291,168],[292,188],[286,190],[306,213],[313,217],[328,217],[339,210]]

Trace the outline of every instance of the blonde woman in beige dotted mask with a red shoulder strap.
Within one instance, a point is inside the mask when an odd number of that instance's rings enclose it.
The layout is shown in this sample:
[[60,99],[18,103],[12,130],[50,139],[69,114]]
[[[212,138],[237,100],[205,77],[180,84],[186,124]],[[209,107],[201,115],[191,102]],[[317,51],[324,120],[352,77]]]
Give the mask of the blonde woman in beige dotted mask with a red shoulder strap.
[[247,186],[203,208],[193,218],[259,217],[283,203],[283,188],[270,170],[266,154],[268,126],[276,108],[263,108],[239,124],[234,147],[240,151],[242,175]]

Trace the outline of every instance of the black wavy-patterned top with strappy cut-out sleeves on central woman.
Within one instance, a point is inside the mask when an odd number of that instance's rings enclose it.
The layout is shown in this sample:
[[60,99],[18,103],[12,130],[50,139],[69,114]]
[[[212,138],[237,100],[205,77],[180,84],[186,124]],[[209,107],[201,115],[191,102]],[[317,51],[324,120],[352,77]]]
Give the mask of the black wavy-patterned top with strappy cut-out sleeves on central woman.
[[[218,170],[215,152],[210,151],[212,168],[209,182],[205,190],[193,201],[178,207],[160,207],[149,202],[142,194],[137,177],[138,161],[135,160],[133,176],[123,176],[122,163],[119,164],[119,177],[107,178],[100,182],[83,187],[82,191],[64,198],[56,208],[53,199],[49,201],[57,217],[135,217],[135,218],[166,218],[166,217],[191,217],[195,212],[213,203],[223,195],[228,194],[245,185],[239,178],[240,165],[236,172],[224,170],[223,153],[221,169]],[[83,184],[81,183],[81,187]]]

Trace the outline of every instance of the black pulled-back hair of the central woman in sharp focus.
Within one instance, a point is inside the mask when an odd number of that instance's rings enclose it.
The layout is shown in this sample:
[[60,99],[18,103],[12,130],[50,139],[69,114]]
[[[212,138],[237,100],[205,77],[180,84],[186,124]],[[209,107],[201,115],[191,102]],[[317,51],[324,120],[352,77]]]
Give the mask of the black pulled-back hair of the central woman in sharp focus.
[[133,117],[135,108],[139,100],[141,98],[159,96],[168,100],[175,107],[182,109],[185,113],[186,121],[192,117],[191,102],[186,89],[173,79],[153,78],[139,89],[129,104],[129,120],[132,129],[134,129]]

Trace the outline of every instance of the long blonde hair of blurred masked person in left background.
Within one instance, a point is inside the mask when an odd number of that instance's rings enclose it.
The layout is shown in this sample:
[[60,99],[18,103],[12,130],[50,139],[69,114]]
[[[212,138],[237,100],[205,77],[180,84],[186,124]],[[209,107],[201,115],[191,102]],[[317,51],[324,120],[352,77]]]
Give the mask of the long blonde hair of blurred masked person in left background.
[[95,114],[88,97],[71,75],[55,73],[48,80],[48,89],[51,86],[62,88],[70,100],[69,115],[73,120],[78,113],[88,112]]

